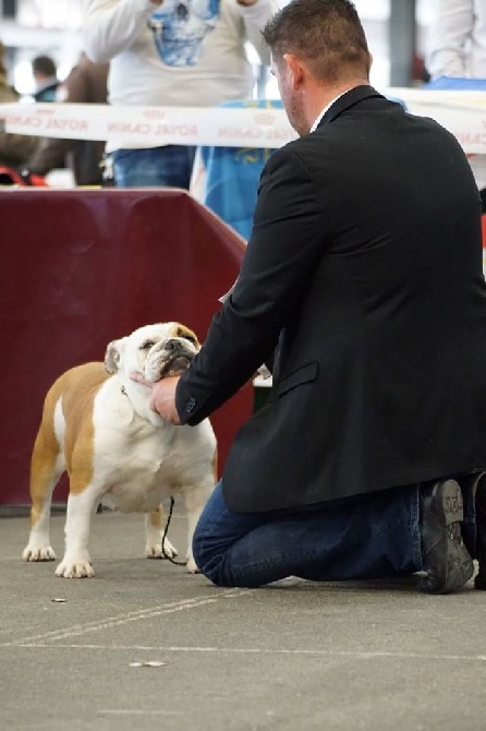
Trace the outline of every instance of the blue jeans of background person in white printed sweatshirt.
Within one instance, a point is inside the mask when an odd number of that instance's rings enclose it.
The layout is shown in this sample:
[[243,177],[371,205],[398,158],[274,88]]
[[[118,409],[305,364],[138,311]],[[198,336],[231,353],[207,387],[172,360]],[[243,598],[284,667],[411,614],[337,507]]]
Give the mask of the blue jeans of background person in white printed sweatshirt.
[[117,188],[183,188],[189,190],[196,147],[165,145],[111,153]]

